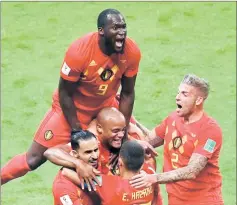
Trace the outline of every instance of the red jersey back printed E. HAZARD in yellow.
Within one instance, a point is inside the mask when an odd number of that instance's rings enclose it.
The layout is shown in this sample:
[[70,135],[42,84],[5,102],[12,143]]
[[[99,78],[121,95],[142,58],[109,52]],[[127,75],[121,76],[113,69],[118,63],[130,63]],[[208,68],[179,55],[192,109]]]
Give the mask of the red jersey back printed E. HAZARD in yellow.
[[[143,165],[143,170],[149,174],[155,173],[146,164]],[[101,205],[151,205],[154,198],[154,185],[135,189],[129,184],[128,179],[111,175],[102,175],[101,180],[102,186],[96,187],[96,192],[101,197]]]

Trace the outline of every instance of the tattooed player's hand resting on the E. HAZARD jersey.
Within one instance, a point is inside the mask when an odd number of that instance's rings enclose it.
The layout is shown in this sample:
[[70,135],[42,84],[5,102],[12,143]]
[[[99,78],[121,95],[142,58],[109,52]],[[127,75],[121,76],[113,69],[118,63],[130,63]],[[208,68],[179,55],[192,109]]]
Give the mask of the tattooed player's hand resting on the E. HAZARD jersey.
[[149,187],[156,183],[156,174],[147,174],[142,170],[140,174],[133,176],[129,183],[134,188]]

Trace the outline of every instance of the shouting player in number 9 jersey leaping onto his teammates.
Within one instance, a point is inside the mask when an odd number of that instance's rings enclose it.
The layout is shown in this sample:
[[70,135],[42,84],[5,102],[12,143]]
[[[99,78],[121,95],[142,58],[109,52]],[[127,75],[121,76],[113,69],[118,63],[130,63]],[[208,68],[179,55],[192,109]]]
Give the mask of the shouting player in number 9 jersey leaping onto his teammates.
[[[141,53],[136,43],[126,37],[125,19],[119,11],[102,11],[97,27],[98,32],[81,37],[68,48],[52,107],[30,149],[1,169],[2,184],[38,168],[46,161],[45,150],[68,143],[70,133],[85,129],[101,108],[118,106],[115,96],[120,85],[119,110],[128,125]],[[81,175],[91,178],[93,173],[81,170]]]

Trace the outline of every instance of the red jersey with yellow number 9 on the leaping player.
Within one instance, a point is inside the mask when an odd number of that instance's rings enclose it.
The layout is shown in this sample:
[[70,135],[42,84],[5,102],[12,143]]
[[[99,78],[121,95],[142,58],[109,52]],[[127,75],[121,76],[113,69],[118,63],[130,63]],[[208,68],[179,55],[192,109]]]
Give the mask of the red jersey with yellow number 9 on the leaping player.
[[[135,76],[141,58],[138,46],[128,37],[124,53],[110,56],[102,53],[98,40],[98,32],[94,32],[73,42],[66,52],[60,72],[63,79],[78,81],[74,104],[79,112],[89,113],[92,118],[103,107],[111,106],[122,76]],[[54,101],[58,102],[57,91]]]

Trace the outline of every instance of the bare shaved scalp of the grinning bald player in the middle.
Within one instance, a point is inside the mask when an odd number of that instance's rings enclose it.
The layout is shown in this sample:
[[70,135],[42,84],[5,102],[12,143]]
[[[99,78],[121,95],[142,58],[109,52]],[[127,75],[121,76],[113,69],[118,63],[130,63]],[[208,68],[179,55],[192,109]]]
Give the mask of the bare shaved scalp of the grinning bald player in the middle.
[[114,121],[125,121],[124,115],[114,107],[103,108],[97,115],[96,119],[102,126]]

